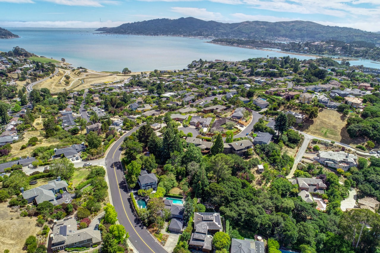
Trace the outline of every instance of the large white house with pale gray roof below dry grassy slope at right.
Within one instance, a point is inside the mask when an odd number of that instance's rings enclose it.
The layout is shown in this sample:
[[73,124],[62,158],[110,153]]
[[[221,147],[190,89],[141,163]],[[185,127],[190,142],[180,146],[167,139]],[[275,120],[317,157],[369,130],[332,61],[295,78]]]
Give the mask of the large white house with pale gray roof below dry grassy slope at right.
[[358,165],[357,160],[358,157],[356,155],[345,153],[343,151],[318,152],[319,163],[335,169],[343,169],[344,171],[348,171],[351,167],[356,167]]

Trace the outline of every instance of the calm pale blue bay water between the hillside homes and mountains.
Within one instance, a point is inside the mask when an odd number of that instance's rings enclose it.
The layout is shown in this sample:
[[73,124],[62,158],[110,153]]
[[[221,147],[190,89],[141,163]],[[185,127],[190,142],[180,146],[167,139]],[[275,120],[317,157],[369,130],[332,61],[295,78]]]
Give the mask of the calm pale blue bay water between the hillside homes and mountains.
[[[205,43],[206,40],[135,35],[103,35],[94,29],[7,28],[21,38],[0,40],[0,51],[15,46],[45,57],[53,57],[96,71],[178,70],[192,60],[244,60],[255,57],[290,55],[313,57]],[[371,60],[351,61],[351,65],[380,68]]]

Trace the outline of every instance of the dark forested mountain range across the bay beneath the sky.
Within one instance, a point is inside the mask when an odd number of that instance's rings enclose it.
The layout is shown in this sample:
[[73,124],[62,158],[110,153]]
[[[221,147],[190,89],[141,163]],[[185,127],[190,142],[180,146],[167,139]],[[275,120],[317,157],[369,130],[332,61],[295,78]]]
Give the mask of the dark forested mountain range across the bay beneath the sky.
[[215,38],[250,38],[259,40],[340,40],[380,43],[380,34],[359,29],[326,26],[310,21],[245,21],[220,23],[204,21],[194,17],[179,19],[152,19],[149,21],[122,24],[118,27],[102,27],[97,31],[134,35],[204,36]]

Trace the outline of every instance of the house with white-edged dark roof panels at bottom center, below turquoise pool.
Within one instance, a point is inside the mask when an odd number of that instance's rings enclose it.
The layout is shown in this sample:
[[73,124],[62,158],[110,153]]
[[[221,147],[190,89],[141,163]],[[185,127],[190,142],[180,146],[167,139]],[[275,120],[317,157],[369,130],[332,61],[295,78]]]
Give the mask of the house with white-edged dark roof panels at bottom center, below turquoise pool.
[[194,213],[194,229],[189,247],[210,253],[212,249],[211,233],[223,231],[219,213]]

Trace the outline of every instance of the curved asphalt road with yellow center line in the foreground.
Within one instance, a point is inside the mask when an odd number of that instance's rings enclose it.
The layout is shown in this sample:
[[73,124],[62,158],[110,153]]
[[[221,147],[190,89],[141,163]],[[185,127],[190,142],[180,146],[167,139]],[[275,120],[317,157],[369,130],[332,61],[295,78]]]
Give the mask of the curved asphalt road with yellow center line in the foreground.
[[157,240],[149,234],[145,227],[133,214],[132,203],[128,194],[128,187],[124,180],[123,169],[120,162],[122,149],[120,145],[125,137],[138,130],[139,126],[133,128],[118,139],[110,148],[106,158],[106,168],[111,190],[112,204],[116,209],[119,223],[125,226],[129,233],[131,244],[140,253],[168,253]]

